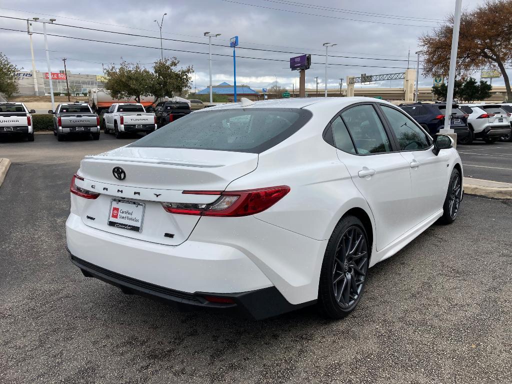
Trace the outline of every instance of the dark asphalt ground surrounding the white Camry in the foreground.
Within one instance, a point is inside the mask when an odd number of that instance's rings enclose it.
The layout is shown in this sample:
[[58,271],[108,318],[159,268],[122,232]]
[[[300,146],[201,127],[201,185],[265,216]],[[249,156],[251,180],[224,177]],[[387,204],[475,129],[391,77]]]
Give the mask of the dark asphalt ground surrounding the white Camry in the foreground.
[[65,249],[80,159],[133,140],[0,142],[0,382],[512,382],[512,202],[466,196],[370,270],[343,321],[179,312],[84,278]]

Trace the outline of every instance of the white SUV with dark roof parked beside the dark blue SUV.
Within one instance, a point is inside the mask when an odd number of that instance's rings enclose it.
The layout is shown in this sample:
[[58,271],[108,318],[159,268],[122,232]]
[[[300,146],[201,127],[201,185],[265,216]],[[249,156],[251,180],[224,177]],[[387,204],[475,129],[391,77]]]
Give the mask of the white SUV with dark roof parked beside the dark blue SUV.
[[501,136],[510,134],[510,114],[500,104],[459,104],[467,113],[470,135],[459,139],[460,144],[471,144],[474,139],[494,143]]

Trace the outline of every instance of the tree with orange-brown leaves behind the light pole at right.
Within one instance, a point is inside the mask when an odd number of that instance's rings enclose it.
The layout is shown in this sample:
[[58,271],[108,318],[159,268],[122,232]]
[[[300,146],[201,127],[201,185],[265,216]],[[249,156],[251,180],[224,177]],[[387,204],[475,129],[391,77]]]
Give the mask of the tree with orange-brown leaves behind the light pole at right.
[[[498,69],[505,81],[507,99],[512,101],[510,81],[505,71],[512,60],[512,0],[487,0],[460,19],[456,76],[466,78],[482,68]],[[424,51],[423,74],[446,76],[450,69],[454,16],[419,38]]]

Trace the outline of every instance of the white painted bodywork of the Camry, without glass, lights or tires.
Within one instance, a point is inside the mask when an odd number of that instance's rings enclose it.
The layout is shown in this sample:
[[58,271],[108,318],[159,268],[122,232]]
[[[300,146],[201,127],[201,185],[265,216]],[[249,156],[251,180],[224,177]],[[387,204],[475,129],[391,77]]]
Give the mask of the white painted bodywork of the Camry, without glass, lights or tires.
[[[245,108],[305,109],[312,117],[259,154],[126,146],[86,157],[77,172],[83,180],[76,185],[100,196],[88,200],[71,195],[66,223],[70,253],[101,268],[182,292],[275,287],[291,304],[316,300],[328,240],[346,212],[357,210],[368,216],[373,266],[442,216],[452,170],[461,167],[455,148],[441,150],[438,156],[432,146],[364,156],[335,148],[323,137],[326,126],[339,111],[358,103],[400,111],[373,98],[266,100]],[[242,110],[240,104],[219,105],[186,119],[237,109]],[[116,166],[125,170],[126,179],[113,177]],[[184,190],[240,191],[281,185],[288,186],[289,193],[252,216],[169,214],[161,206],[161,202],[212,203],[219,198],[183,194]],[[106,225],[112,198],[146,204],[141,232]],[[174,238],[162,236],[171,231]]]

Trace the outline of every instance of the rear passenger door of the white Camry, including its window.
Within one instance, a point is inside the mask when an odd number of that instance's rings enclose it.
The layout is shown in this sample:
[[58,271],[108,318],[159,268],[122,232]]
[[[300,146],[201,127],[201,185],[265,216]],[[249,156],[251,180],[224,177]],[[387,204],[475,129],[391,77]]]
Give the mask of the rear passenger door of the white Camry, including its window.
[[408,205],[411,196],[409,163],[399,152],[393,152],[390,136],[373,103],[358,104],[342,111],[339,121],[333,122],[335,140],[336,136],[343,137],[343,130],[347,129],[355,155],[338,156],[372,210],[376,246],[381,250],[412,227]]

